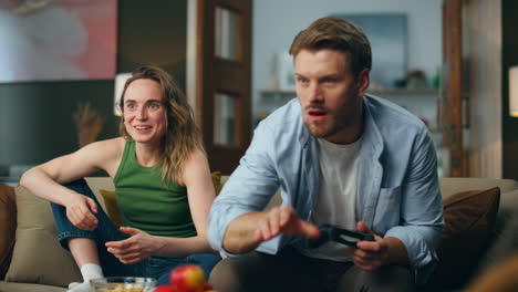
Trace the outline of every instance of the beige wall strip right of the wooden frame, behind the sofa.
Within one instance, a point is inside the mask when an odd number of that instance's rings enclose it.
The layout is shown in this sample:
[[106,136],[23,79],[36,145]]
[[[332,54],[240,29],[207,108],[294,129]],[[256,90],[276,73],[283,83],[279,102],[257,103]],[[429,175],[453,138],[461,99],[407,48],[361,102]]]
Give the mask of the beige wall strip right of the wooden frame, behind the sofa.
[[[503,177],[501,2],[474,0],[464,4],[464,58],[469,60],[468,176]],[[507,114],[507,113],[506,113]]]

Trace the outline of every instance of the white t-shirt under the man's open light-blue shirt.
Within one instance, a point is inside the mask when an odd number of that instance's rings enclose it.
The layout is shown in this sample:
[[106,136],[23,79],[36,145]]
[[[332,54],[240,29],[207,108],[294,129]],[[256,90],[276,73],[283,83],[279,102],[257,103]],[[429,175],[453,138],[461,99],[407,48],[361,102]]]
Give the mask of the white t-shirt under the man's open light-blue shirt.
[[[348,145],[318,138],[320,155],[320,191],[311,221],[356,230],[355,204],[360,146],[362,139]],[[334,261],[350,260],[346,247],[328,242],[317,249],[299,247],[302,254]]]

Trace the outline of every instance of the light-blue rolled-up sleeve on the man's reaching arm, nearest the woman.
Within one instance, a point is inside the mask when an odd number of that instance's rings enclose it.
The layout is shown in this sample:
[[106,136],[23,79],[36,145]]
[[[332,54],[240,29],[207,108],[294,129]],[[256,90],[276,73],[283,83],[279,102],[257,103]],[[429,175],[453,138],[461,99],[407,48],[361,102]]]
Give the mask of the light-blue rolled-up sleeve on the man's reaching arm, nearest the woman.
[[245,213],[263,210],[277,191],[279,182],[271,142],[271,129],[261,123],[238,168],[213,204],[208,221],[213,249],[229,254],[222,249],[222,240],[230,222]]

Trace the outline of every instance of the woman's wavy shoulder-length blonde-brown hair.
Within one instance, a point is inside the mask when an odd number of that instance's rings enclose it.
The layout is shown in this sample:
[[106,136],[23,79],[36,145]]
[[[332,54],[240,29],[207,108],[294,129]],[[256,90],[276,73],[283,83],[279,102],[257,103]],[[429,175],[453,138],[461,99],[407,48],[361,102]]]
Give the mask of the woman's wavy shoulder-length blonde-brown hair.
[[[160,144],[163,152],[159,164],[157,165],[162,179],[164,182],[175,181],[177,184],[183,184],[182,174],[184,173],[185,164],[190,155],[193,155],[194,150],[197,148],[205,153],[201,142],[201,132],[194,121],[193,108],[187,103],[187,98],[169,73],[157,66],[146,65],[132,72],[132,77],[124,84],[122,98],[118,103],[123,113],[124,95],[126,94],[127,86],[133,81],[139,79],[157,82],[160,85],[162,95],[164,96],[163,103],[165,106],[167,129]],[[124,126],[124,118],[121,118],[118,129],[123,137],[130,137]]]

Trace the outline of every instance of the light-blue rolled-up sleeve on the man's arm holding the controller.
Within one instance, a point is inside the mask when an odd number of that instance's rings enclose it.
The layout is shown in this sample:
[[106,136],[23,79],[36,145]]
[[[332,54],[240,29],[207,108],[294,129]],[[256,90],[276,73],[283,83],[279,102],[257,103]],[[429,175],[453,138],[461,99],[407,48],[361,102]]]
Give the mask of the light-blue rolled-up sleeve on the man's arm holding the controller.
[[403,186],[402,223],[385,233],[405,244],[417,283],[426,282],[437,264],[435,249],[444,226],[436,153],[428,133],[422,134]]

